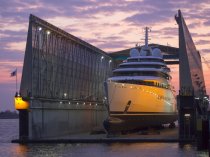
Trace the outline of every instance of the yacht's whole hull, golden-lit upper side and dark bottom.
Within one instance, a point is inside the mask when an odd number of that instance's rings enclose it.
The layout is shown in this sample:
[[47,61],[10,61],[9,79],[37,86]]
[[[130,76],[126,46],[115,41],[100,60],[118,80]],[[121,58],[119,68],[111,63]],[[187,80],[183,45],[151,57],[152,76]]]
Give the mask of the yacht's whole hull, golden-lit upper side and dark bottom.
[[170,89],[107,82],[108,132],[160,126],[177,120],[176,100]]

